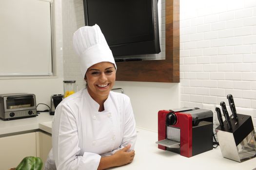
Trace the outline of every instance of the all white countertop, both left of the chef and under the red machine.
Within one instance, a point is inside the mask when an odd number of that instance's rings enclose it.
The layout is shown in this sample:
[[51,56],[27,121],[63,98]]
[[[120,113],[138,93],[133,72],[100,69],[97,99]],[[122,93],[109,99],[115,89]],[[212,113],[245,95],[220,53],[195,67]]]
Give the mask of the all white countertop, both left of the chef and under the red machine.
[[[51,133],[52,118],[49,113],[41,113],[35,118],[0,120],[0,135],[36,129]],[[229,160],[222,157],[219,146],[217,149],[190,158],[163,151],[158,149],[155,143],[158,139],[156,132],[140,128],[137,131],[134,161],[122,167],[112,168],[113,170],[253,170],[256,168],[256,158],[242,163]]]

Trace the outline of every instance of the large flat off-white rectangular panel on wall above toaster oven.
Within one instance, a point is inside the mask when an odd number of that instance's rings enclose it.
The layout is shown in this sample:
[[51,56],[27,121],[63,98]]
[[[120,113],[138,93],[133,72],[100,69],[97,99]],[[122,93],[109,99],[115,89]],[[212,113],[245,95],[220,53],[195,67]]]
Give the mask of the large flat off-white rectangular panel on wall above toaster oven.
[[1,76],[52,75],[51,1],[0,0]]

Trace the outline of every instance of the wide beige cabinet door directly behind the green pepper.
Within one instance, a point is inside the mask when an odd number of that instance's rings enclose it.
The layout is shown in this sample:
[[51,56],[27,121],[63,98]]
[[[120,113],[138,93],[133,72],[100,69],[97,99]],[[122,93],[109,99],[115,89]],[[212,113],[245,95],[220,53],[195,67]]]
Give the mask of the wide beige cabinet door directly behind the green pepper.
[[0,137],[0,169],[16,168],[26,156],[36,156],[36,132]]

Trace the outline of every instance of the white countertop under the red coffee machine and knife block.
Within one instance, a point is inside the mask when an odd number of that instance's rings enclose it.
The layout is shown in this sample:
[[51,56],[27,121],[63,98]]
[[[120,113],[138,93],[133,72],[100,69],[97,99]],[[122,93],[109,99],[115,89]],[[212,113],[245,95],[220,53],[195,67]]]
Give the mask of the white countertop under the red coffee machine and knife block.
[[138,129],[134,161],[118,170],[253,170],[256,158],[239,163],[222,157],[219,146],[190,158],[158,149],[158,134]]

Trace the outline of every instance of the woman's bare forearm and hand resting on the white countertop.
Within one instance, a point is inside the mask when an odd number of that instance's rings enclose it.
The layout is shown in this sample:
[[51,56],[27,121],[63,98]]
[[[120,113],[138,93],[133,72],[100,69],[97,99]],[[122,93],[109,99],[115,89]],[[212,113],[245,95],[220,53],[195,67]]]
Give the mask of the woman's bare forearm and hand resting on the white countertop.
[[119,167],[131,163],[135,156],[135,151],[133,150],[128,152],[130,148],[131,145],[129,144],[111,156],[101,157],[98,170],[104,170],[111,167]]

